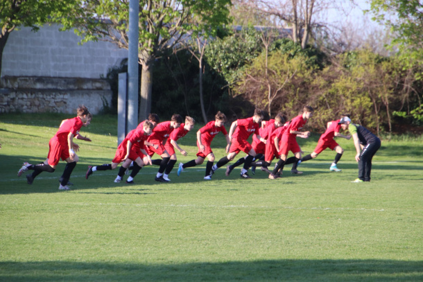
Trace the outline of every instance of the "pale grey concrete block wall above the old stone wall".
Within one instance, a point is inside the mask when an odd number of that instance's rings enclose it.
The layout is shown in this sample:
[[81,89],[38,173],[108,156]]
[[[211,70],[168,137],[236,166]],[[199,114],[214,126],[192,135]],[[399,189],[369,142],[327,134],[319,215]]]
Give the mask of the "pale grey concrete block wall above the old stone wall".
[[10,33],[3,51],[0,76],[49,76],[100,78],[119,65],[128,51],[109,42],[78,45],[74,31],[60,32],[59,26],[45,25],[36,33],[21,28]]

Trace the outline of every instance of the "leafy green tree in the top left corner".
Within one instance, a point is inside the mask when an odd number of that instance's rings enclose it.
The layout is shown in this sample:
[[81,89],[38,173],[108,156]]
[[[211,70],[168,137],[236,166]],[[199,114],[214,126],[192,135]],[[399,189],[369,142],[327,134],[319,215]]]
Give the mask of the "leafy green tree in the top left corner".
[[0,1],[0,74],[3,50],[13,30],[21,26],[40,29],[47,22],[67,17],[74,0],[1,0]]

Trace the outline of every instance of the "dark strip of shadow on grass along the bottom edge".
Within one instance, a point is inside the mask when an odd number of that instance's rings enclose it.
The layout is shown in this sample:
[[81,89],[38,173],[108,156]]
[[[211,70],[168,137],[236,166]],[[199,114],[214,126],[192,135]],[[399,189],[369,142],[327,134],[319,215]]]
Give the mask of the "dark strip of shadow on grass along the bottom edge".
[[1,262],[0,281],[422,281],[423,261]]

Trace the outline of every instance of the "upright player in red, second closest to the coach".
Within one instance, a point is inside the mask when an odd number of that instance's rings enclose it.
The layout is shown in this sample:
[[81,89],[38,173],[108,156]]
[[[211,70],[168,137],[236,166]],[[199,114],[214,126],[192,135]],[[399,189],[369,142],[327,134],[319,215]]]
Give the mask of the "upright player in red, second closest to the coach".
[[284,165],[286,162],[286,157],[288,156],[288,152],[293,152],[295,156],[295,162],[293,164],[293,168],[291,169],[291,173],[300,175],[302,174],[302,171],[297,170],[298,161],[301,159],[301,148],[298,146],[297,143],[297,135],[304,135],[304,136],[310,136],[310,132],[301,132],[302,127],[307,123],[309,118],[313,116],[313,108],[310,106],[304,106],[302,114],[296,116],[293,118],[290,122],[288,127],[286,127],[286,130],[284,134],[282,135],[282,146],[279,150],[280,152],[280,159],[277,161],[277,164],[275,166],[275,169],[272,173],[270,173],[269,178],[275,179],[277,178],[276,173],[280,170],[284,169]]

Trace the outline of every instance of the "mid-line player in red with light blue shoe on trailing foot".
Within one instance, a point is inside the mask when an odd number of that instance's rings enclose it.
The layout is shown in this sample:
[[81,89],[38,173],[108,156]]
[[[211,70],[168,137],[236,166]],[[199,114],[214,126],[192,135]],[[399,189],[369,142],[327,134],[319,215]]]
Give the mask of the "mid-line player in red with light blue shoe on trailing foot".
[[198,130],[197,132],[197,146],[198,146],[197,159],[188,161],[185,164],[180,163],[178,168],[178,176],[180,176],[184,168],[198,166],[202,164],[205,158],[207,157],[208,161],[206,164],[206,174],[204,179],[206,180],[212,179],[212,177],[210,176],[210,171],[212,170],[212,166],[214,163],[214,154],[213,154],[212,148],[210,147],[210,144],[212,143],[214,136],[216,136],[216,134],[218,134],[219,132],[222,132],[225,135],[225,138],[227,141],[226,152],[229,152],[229,148],[230,148],[229,136],[227,135],[227,132],[224,126],[225,121],[226,121],[225,114],[223,114],[222,112],[218,112],[215,116],[215,121],[210,121],[205,126],[201,127],[200,130]]

